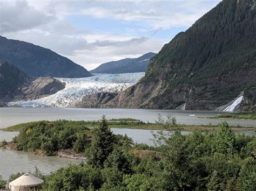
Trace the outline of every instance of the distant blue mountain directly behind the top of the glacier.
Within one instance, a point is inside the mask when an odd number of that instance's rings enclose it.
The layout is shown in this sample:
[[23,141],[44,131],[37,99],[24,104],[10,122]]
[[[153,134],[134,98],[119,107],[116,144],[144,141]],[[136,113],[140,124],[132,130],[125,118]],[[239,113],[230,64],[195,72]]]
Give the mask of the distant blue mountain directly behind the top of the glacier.
[[126,58],[118,61],[106,62],[97,68],[90,70],[90,72],[106,74],[146,72],[149,61],[154,55],[156,55],[156,53],[149,52],[139,58]]

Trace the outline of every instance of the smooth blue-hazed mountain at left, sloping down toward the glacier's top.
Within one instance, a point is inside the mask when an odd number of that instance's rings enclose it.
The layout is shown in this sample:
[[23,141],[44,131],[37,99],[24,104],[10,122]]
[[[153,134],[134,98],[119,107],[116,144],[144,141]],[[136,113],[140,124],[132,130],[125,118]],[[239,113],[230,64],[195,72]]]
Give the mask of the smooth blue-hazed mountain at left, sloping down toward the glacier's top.
[[18,67],[26,75],[44,77],[88,77],[85,68],[48,48],[0,36],[0,59]]

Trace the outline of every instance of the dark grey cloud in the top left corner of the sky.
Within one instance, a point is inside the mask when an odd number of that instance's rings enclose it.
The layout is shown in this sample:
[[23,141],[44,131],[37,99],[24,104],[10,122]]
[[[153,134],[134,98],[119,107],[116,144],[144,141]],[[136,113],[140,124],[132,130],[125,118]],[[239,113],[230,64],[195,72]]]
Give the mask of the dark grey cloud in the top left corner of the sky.
[[26,1],[1,1],[0,32],[17,32],[51,22],[54,15],[35,10]]

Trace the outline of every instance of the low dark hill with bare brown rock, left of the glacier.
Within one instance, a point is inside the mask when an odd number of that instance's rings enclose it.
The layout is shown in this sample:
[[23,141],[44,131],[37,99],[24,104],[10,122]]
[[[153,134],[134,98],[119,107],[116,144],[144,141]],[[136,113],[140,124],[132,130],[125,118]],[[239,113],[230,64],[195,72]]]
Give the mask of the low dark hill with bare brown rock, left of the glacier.
[[9,62],[0,60],[0,102],[35,100],[65,88],[53,77],[27,76]]

